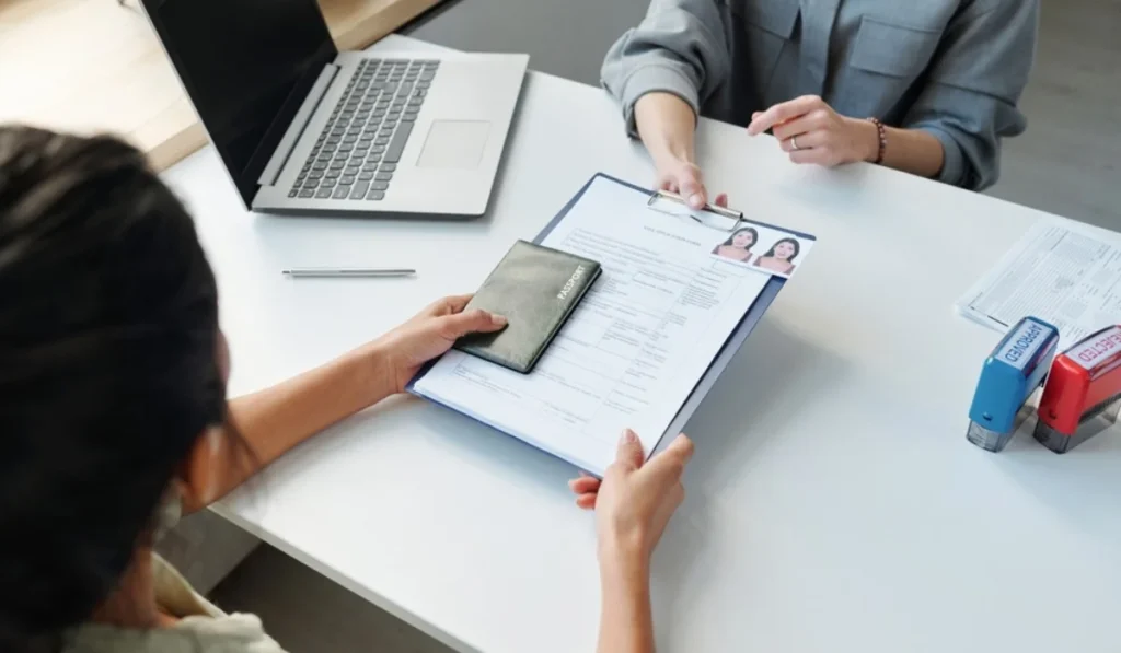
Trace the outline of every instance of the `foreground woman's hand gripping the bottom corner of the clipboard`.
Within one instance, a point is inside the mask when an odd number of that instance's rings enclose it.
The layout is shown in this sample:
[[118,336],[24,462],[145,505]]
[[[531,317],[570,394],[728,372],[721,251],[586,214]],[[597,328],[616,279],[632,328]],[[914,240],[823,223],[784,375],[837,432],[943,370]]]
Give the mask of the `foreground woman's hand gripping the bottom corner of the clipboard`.
[[642,445],[628,429],[602,482],[582,476],[568,483],[576,505],[595,510],[601,566],[648,567],[670,515],[685,498],[682,473],[692,457],[693,441],[682,435],[643,464]]

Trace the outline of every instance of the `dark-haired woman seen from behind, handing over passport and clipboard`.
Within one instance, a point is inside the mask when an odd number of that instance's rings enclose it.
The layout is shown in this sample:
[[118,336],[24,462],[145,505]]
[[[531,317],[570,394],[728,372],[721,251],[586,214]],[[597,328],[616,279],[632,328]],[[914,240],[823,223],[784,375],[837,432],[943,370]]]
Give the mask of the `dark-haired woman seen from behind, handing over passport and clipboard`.
[[[152,552],[315,432],[392,393],[501,317],[439,300],[372,343],[226,401],[217,289],[179,202],[111,138],[0,128],[0,651],[276,653]],[[595,507],[604,651],[652,650],[649,557],[682,498],[679,438],[632,433]]]

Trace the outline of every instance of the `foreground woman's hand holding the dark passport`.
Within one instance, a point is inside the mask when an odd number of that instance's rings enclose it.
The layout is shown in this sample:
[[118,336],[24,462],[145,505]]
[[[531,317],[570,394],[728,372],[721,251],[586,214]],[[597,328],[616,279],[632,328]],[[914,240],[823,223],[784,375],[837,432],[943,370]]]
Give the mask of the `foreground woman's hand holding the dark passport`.
[[470,295],[437,300],[373,343],[386,363],[393,392],[404,392],[421,365],[451,349],[461,337],[506,327],[507,320],[500,315],[479,309],[464,312],[470,300]]

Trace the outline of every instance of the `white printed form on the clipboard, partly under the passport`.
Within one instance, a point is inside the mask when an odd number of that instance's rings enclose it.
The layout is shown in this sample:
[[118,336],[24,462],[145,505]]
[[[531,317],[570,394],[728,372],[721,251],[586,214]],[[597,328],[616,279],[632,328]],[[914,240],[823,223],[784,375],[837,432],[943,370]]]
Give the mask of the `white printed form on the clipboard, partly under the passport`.
[[728,232],[646,198],[597,177],[541,241],[603,274],[531,374],[451,352],[414,392],[596,474],[624,428],[649,454],[767,284],[782,281],[714,256]]

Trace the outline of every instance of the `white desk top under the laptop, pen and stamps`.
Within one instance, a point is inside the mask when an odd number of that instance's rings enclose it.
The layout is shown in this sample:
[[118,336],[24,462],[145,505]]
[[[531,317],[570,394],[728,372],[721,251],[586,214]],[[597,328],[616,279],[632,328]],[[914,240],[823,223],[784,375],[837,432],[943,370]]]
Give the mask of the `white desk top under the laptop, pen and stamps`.
[[[689,495],[654,567],[659,651],[1118,651],[1121,433],[1066,456],[965,441],[997,335],[951,304],[1039,214],[871,166],[795,167],[710,121],[700,150],[733,204],[819,240],[689,426]],[[485,220],[249,215],[210,149],[166,179],[216,268],[241,393],[472,290],[597,170],[651,176],[601,91],[531,74]],[[280,276],[344,263],[419,276]],[[393,400],[220,510],[454,646],[571,653],[593,650],[599,609],[573,473]]]

